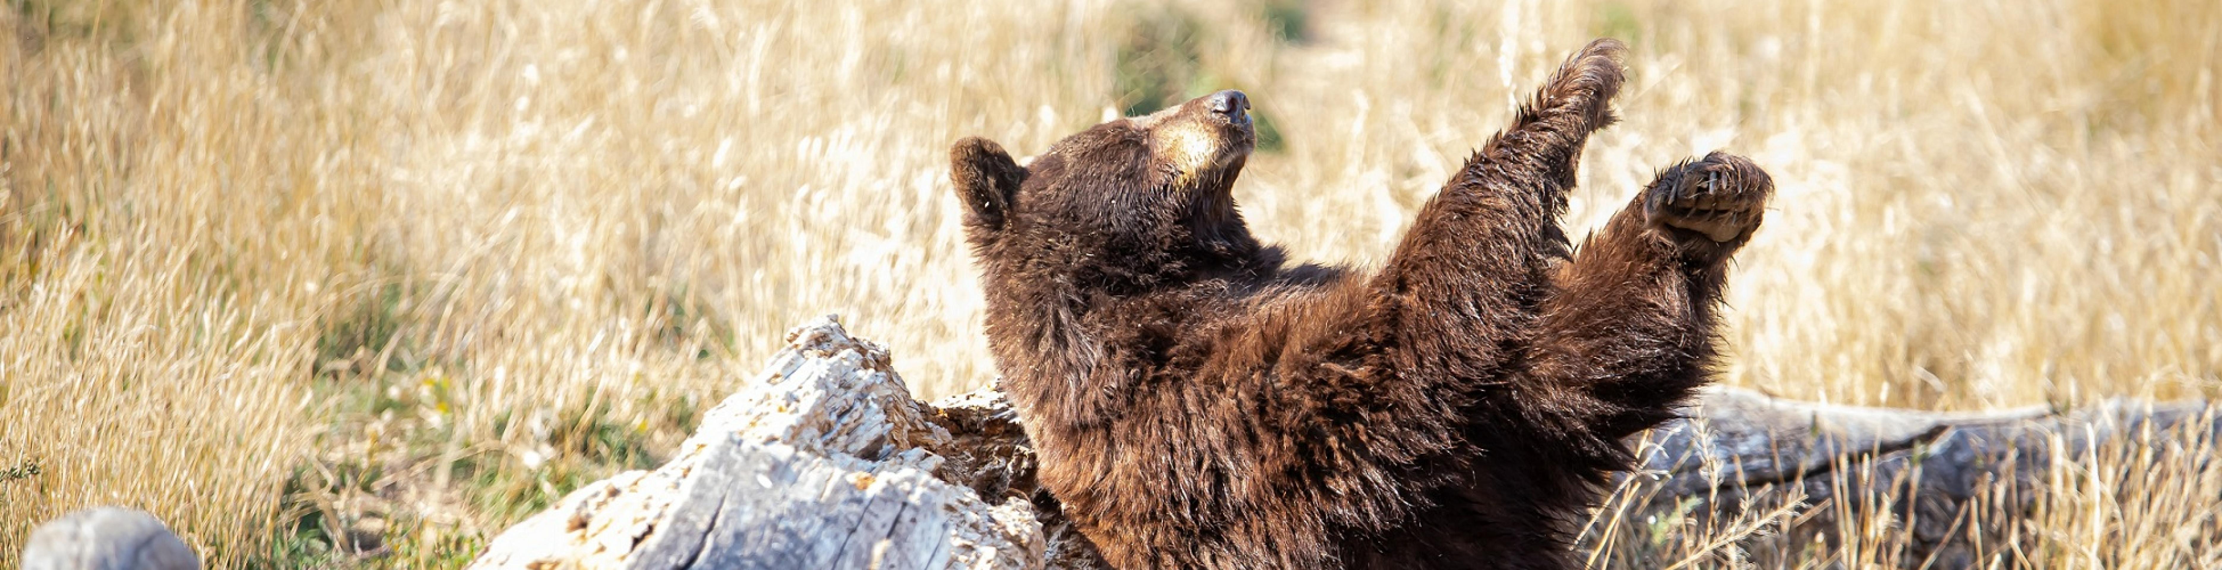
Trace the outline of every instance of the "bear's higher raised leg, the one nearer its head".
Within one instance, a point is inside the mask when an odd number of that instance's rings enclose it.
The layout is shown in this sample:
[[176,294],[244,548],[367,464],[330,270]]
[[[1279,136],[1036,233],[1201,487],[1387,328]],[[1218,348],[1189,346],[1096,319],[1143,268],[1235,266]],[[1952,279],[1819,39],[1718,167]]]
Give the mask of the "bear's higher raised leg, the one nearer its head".
[[1618,40],[1595,40],[1567,58],[1513,124],[1420,208],[1369,282],[1382,315],[1371,335],[1433,359],[1395,366],[1504,373],[1549,291],[1551,266],[1569,253],[1558,220],[1589,133],[1613,120],[1622,51]]

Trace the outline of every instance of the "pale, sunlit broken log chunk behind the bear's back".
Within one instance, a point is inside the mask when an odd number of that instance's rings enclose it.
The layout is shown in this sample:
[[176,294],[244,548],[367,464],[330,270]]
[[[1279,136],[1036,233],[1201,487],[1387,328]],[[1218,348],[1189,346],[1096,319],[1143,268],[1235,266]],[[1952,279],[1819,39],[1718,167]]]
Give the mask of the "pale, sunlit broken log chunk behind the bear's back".
[[[955,437],[887,353],[831,317],[651,472],[589,484],[496,537],[471,568],[1040,568],[1024,499],[973,490]],[[980,446],[975,446],[980,448]]]

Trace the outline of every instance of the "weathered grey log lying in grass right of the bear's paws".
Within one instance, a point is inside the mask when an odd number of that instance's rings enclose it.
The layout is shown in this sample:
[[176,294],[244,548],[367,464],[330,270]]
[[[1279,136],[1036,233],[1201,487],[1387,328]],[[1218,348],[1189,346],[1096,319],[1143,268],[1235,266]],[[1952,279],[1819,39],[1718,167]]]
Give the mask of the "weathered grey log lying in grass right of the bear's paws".
[[[1709,388],[1686,419],[1631,441],[1642,472],[1629,495],[1635,512],[1702,517],[1798,501],[1786,532],[1742,541],[1762,568],[1795,566],[1815,541],[1835,546],[1844,517],[1886,517],[1909,568],[1978,568],[2015,548],[2015,526],[2055,466],[2133,468],[2104,457],[2151,448],[2166,448],[2158,461],[2209,461],[2222,450],[2218,413],[2209,401],[2120,397],[2073,410],[1926,413]],[[2191,541],[2222,546],[2211,532]]]

